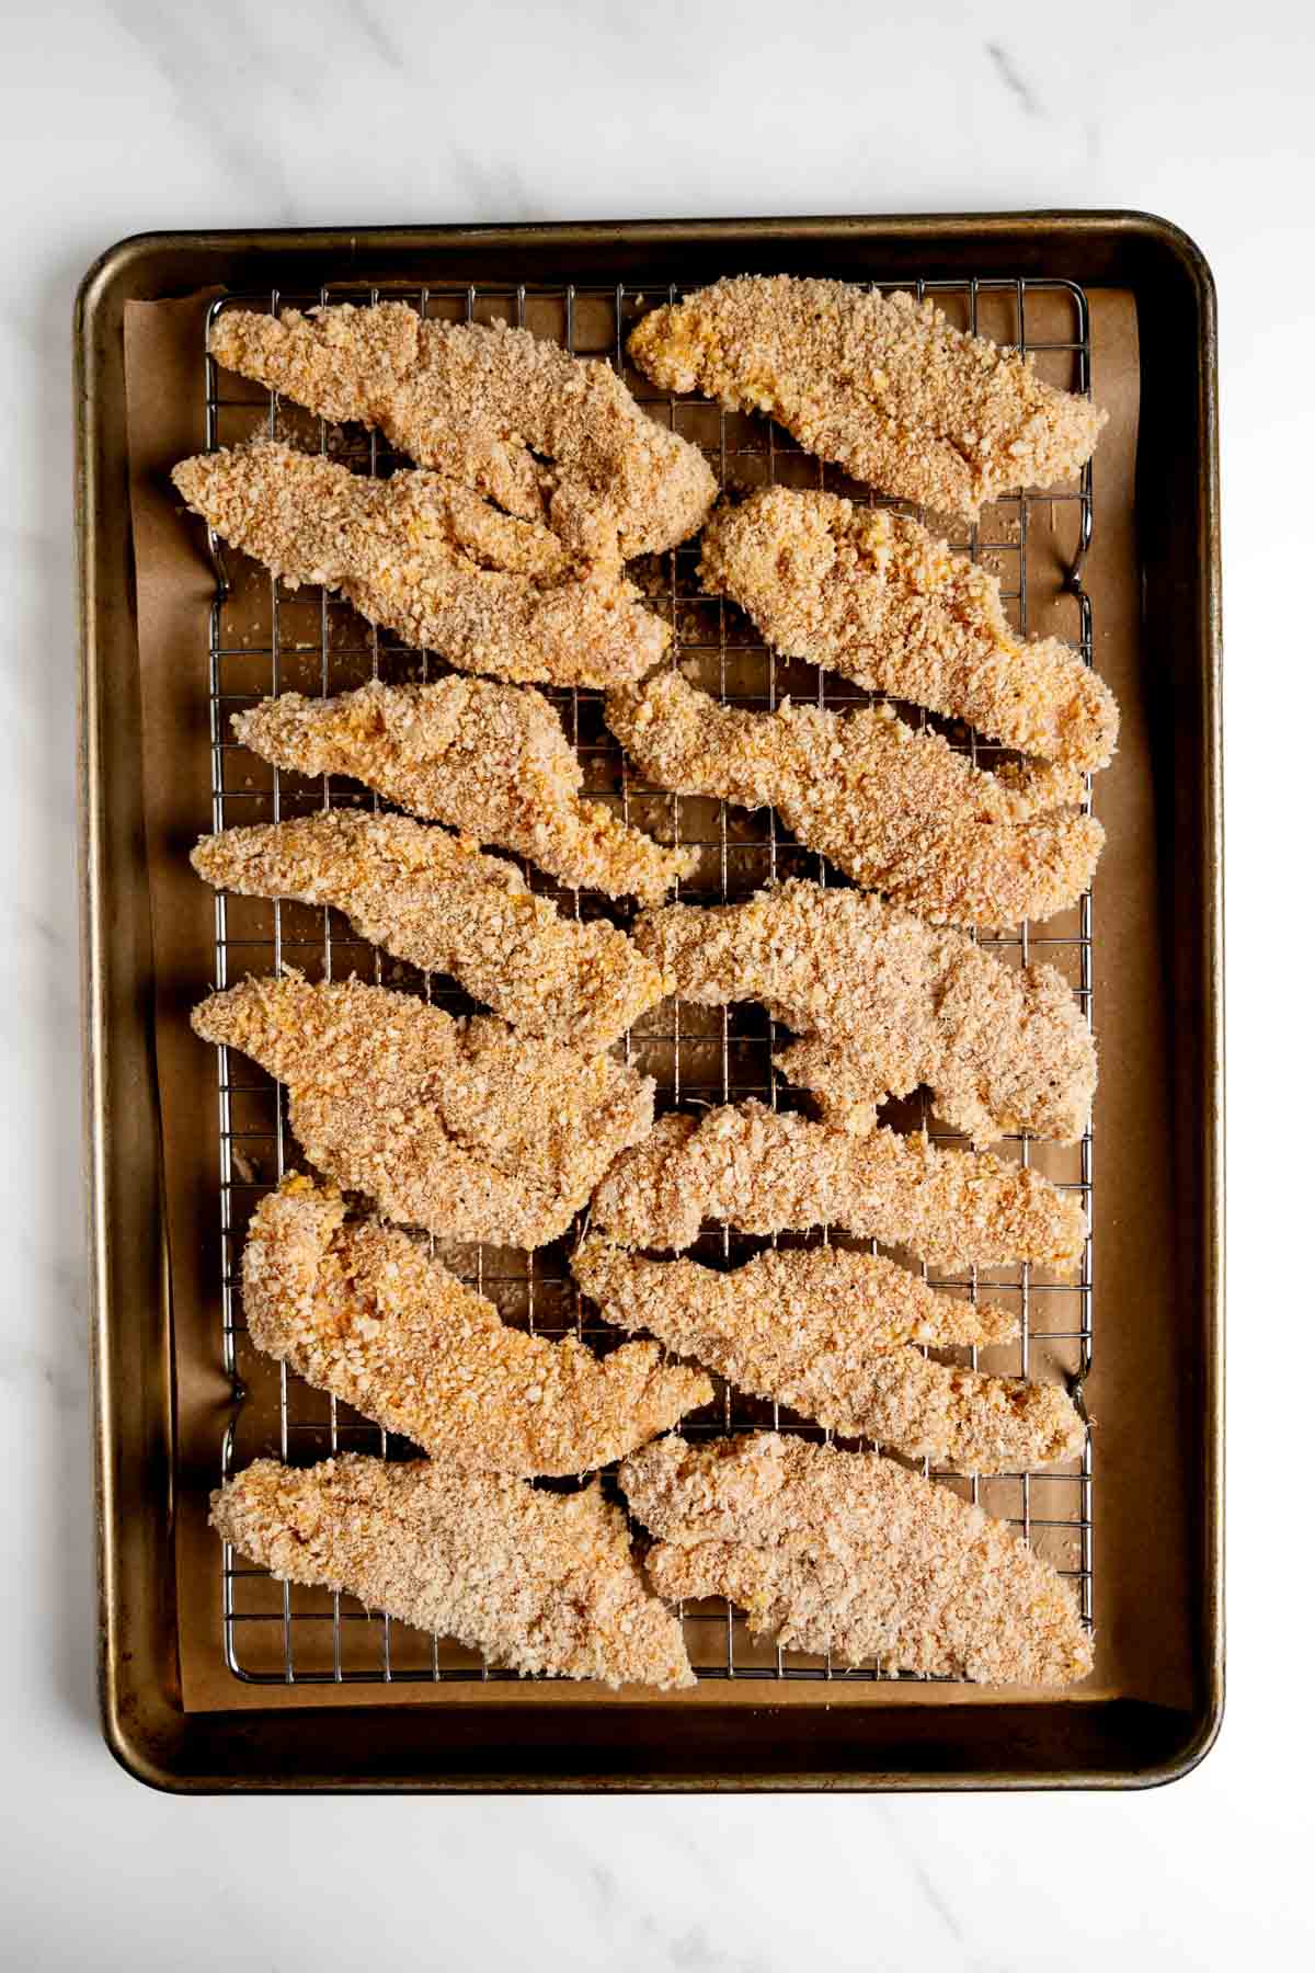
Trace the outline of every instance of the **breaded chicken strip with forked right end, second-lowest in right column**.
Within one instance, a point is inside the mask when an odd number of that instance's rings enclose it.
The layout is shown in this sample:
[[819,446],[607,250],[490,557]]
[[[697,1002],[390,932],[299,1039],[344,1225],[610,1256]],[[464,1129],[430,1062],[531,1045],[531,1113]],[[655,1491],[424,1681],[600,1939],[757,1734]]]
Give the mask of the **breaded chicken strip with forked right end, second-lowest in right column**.
[[842,1438],[875,1438],[964,1474],[1019,1472],[1082,1450],[1082,1421],[1059,1385],[931,1363],[895,1342],[1004,1342],[1017,1324],[1002,1308],[936,1294],[893,1261],[812,1247],[759,1253],[724,1275],[645,1261],[589,1235],[572,1269],[607,1322],[649,1330],[739,1391]]

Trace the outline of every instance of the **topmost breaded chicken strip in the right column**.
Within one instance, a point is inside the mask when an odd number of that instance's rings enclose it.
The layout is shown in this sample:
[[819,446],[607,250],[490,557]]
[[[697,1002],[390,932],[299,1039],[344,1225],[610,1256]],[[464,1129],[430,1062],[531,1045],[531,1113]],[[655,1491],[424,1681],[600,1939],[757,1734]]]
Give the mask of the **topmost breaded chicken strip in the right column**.
[[629,351],[664,391],[763,410],[856,479],[968,521],[1013,487],[1073,477],[1108,418],[933,302],[842,280],[718,280],[655,308]]

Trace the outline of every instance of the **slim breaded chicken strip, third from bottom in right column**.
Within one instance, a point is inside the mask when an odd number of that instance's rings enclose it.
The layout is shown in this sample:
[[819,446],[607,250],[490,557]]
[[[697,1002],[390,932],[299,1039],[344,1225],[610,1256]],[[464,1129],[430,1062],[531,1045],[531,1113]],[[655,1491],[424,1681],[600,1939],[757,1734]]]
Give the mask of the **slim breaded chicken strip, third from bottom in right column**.
[[589,1209],[607,1239],[668,1251],[692,1247],[704,1219],[741,1233],[836,1225],[944,1269],[1071,1271],[1086,1237],[1080,1200],[1031,1168],[895,1131],[854,1136],[753,1101],[658,1117]]

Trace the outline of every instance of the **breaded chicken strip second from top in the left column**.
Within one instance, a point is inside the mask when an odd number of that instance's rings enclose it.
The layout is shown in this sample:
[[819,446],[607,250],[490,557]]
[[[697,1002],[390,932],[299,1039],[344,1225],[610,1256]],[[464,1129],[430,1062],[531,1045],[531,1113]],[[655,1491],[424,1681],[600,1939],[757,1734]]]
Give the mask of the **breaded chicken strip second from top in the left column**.
[[574,564],[546,527],[440,474],[367,479],[262,438],[183,460],[173,485],[290,588],[321,582],[459,671],[615,685],[670,639],[619,564]]

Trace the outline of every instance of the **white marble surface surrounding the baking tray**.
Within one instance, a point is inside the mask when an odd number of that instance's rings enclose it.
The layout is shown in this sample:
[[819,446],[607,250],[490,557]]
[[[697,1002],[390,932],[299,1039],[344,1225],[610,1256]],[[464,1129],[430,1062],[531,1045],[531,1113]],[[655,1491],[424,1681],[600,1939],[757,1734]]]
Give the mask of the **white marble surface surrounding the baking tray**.
[[[1311,1290],[1283,1229],[1309,1190],[1313,1095],[1297,1038],[1313,51],[1309,10],[1278,0],[0,10],[12,1965],[1309,1963],[1315,1606],[1289,1517],[1313,1488]],[[148,1793],[110,1764],[93,1707],[67,381],[81,272],[152,227],[1027,205],[1165,213],[1205,247],[1222,300],[1232,1693],[1218,1748],[1167,1791],[1110,1799]]]

